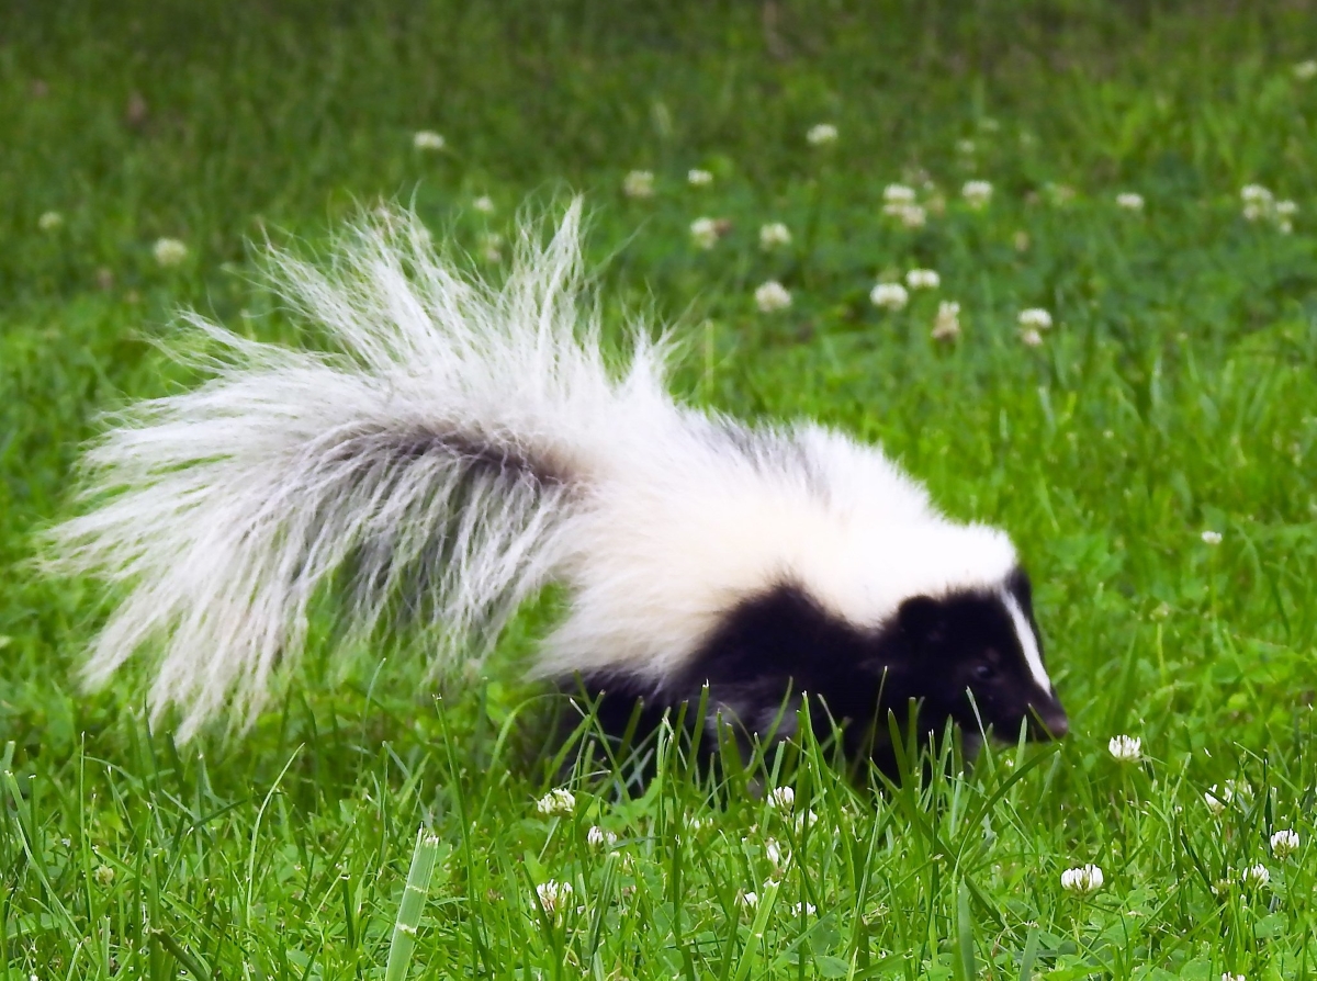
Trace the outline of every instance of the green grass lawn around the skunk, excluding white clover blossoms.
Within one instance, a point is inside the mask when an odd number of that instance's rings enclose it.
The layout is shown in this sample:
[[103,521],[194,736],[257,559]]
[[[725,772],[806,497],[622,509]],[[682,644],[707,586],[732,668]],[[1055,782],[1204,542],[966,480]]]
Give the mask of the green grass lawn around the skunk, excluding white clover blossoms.
[[[753,4],[13,5],[0,977],[382,978],[392,959],[392,978],[408,951],[412,977],[1317,970],[1317,79],[1292,70],[1317,55],[1310,4],[773,9],[768,30]],[[811,147],[820,121],[840,138]],[[448,149],[415,150],[417,129]],[[655,198],[622,195],[633,167]],[[690,167],[714,183],[687,187]],[[982,211],[960,199],[971,178],[996,188]],[[934,182],[921,196],[944,212],[885,217],[901,179]],[[1242,217],[1251,182],[1299,203],[1291,234]],[[24,561],[68,512],[96,412],[188,381],[153,344],[170,312],[294,341],[250,240],[319,244],[402,198],[490,266],[486,232],[570,191],[612,323],[676,323],[685,396],[881,440],[952,514],[1011,532],[1063,745],[878,794],[813,744],[722,785],[660,747],[643,797],[585,780],[543,815],[545,699],[510,665],[544,611],[443,699],[406,644],[382,665],[312,652],[238,743],[150,733],[140,673],[79,691],[103,598]],[[732,223],[710,252],[701,216]],[[763,253],[766,221],[793,244]],[[180,266],[154,261],[165,236]],[[915,266],[940,288],[869,304]],[[769,278],[790,309],[756,311]],[[961,304],[951,345],[928,337],[943,299]],[[1056,320],[1036,348],[1027,307]],[[1142,762],[1108,753],[1122,732]],[[793,786],[794,811],[763,781]],[[1250,793],[1213,814],[1226,781]],[[1303,841],[1288,860],[1280,828]],[[431,859],[417,913],[404,885]],[[1104,888],[1063,891],[1087,862]],[[1255,862],[1270,882],[1246,889]],[[549,881],[573,889],[557,911]]]

